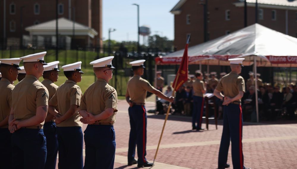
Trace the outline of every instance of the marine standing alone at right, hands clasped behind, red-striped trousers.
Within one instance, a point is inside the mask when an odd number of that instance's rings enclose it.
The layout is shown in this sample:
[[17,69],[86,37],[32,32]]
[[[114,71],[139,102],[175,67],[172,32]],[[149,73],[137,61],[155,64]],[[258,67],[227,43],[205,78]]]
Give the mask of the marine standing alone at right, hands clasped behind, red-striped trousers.
[[[243,65],[242,58],[229,59],[231,72],[225,75],[213,94],[222,99],[224,105],[223,133],[219,149],[218,168],[229,168],[227,164],[230,140],[232,145],[233,168],[245,168],[242,152],[242,111],[241,98],[245,92],[244,80],[238,75]],[[221,93],[224,92],[224,95]]]

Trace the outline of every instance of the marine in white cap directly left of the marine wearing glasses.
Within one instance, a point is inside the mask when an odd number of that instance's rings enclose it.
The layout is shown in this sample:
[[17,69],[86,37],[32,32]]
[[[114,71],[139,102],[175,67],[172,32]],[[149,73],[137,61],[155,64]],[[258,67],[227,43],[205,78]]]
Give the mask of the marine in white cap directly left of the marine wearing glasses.
[[[49,113],[56,118],[59,143],[59,168],[83,168],[83,133],[78,113],[82,92],[76,84],[81,82],[81,61],[62,66],[65,81],[49,101]],[[58,105],[59,112],[55,110]]]

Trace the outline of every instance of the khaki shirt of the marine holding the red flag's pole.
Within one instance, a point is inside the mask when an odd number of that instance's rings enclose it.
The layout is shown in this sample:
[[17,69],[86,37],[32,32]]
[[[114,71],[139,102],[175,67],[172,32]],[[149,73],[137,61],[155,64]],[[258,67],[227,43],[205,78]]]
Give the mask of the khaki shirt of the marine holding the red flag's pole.
[[155,88],[139,75],[134,75],[127,84],[127,93],[133,103],[144,103],[147,97],[147,91],[151,92],[153,89]]

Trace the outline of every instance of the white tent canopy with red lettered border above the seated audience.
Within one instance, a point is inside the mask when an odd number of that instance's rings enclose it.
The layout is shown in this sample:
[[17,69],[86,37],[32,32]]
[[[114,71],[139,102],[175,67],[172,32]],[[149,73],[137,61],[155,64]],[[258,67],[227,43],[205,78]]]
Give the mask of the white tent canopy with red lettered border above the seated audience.
[[[189,64],[228,65],[230,58],[245,57],[244,65],[297,67],[297,38],[260,24],[188,48]],[[179,64],[183,50],[157,58],[157,64]],[[276,57],[277,56],[277,57]],[[211,59],[211,61],[208,61]]]

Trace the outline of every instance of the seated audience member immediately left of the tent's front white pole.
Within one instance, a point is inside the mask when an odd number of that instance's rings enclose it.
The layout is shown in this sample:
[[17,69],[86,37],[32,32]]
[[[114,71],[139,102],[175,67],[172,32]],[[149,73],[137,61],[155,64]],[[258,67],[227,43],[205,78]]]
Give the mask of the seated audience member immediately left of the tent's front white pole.
[[241,98],[243,121],[251,120],[251,113],[256,106],[255,86],[250,86],[249,91]]

